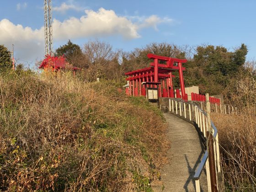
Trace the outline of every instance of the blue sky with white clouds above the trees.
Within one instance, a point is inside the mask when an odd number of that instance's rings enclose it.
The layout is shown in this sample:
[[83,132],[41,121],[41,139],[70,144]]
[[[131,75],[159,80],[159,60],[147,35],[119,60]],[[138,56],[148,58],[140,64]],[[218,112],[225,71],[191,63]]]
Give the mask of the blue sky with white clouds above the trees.
[[[255,0],[52,0],[53,47],[98,38],[131,51],[151,42],[248,45],[256,56]],[[1,0],[0,44],[19,63],[44,57],[43,0]]]

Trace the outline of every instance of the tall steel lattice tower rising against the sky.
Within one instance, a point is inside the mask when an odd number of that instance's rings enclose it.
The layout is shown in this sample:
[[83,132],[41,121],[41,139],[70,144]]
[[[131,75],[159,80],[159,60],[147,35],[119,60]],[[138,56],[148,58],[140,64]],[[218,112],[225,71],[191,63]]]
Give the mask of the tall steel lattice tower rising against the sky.
[[51,55],[53,48],[51,0],[44,0],[44,42],[45,55]]

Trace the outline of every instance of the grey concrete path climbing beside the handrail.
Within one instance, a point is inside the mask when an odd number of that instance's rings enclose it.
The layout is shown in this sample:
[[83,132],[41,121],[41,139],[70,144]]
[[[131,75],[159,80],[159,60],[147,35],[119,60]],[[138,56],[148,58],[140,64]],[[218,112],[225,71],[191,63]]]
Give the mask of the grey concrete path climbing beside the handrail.
[[[170,163],[161,169],[163,192],[193,192],[193,176],[203,158],[204,146],[192,124],[170,113],[164,115],[169,124],[166,136],[171,141],[171,148],[168,151]],[[205,172],[200,177],[201,191],[208,191]],[[161,192],[161,188],[153,187],[153,190]]]

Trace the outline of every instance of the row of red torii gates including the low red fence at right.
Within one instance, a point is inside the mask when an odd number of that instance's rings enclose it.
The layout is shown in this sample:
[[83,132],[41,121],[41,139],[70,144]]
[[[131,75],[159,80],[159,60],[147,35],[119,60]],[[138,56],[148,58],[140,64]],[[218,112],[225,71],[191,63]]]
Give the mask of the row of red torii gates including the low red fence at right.
[[[158,87],[158,95],[160,97],[176,97],[187,101],[188,96],[185,92],[183,79],[183,71],[186,68],[182,66],[182,64],[187,62],[187,59],[164,57],[152,53],[149,53],[147,57],[154,59],[154,62],[150,63],[149,67],[125,73],[128,76],[126,80],[129,81],[126,93],[130,96],[146,96],[146,88]],[[172,73],[175,71],[178,71],[180,79],[180,88],[176,90],[174,90],[172,82],[172,78],[175,77]],[[160,85],[158,86],[156,84]],[[192,101],[206,100],[203,95],[196,93],[190,94]],[[220,100],[210,97],[210,102],[220,103]]]

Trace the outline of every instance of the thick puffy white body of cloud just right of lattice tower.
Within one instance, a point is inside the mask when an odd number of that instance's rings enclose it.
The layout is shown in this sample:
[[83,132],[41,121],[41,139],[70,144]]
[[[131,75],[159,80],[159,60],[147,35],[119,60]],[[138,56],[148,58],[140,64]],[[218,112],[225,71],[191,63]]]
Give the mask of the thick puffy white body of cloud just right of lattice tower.
[[138,25],[112,10],[85,10],[80,19],[71,17],[63,22],[54,20],[54,38],[79,38],[121,35],[123,38],[138,38]]

